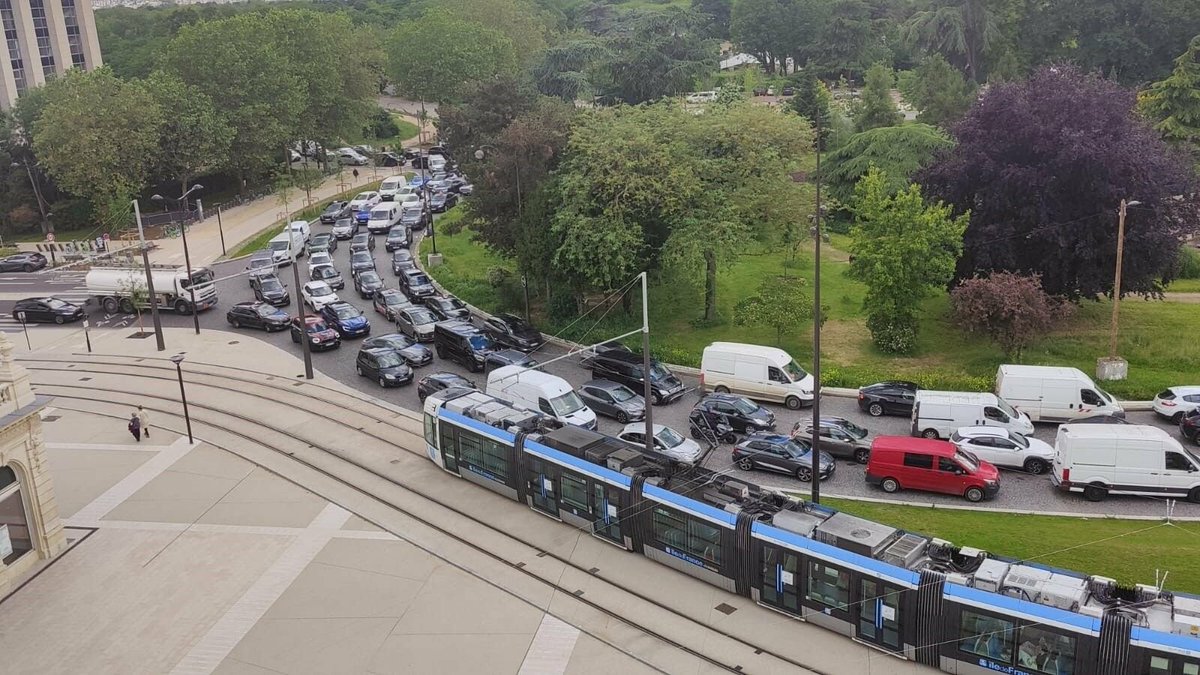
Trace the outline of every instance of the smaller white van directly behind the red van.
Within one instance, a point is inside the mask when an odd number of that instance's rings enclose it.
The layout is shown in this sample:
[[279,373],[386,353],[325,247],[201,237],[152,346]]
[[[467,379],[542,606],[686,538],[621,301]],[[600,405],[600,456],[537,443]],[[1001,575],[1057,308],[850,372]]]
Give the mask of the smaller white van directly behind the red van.
[[960,426],[1000,426],[1028,436],[1030,416],[996,394],[918,389],[912,406],[912,435],[949,438]]

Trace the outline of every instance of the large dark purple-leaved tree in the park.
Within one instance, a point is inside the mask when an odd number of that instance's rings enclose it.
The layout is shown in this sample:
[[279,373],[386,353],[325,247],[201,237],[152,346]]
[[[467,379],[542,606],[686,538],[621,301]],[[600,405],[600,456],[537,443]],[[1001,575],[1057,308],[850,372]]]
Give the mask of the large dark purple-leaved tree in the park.
[[[1134,94],[1069,66],[994,85],[955,127],[958,145],[917,181],[971,211],[956,277],[1038,273],[1046,292],[1112,289],[1117,205],[1136,199],[1122,292],[1152,294],[1196,222],[1195,179],[1134,112]],[[1064,141],[1069,139],[1069,141]]]

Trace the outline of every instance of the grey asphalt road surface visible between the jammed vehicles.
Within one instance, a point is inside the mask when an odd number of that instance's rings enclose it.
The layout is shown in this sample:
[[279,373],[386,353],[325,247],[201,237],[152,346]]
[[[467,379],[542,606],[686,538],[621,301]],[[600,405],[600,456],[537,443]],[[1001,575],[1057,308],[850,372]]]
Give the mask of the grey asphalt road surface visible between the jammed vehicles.
[[[313,234],[320,232],[328,232],[330,226],[323,226],[319,223],[313,225]],[[391,253],[386,252],[383,246],[383,237],[377,237],[379,240],[376,250],[376,267],[379,270],[379,275],[384,279],[384,282],[389,287],[396,287],[396,277],[391,273]],[[414,244],[415,249],[415,244]],[[385,333],[394,331],[386,319],[373,311],[371,306],[371,300],[361,299],[354,291],[353,282],[349,279],[349,247],[348,241],[340,241],[337,250],[334,252],[335,265],[341,270],[347,279],[347,288],[338,291],[341,299],[356,305],[359,309],[367,315],[372,324],[372,335],[383,335]],[[307,258],[304,258],[299,263],[301,273],[301,283],[305,281],[307,273]],[[241,329],[234,330],[226,322],[226,311],[234,303],[242,300],[252,300],[253,293],[250,289],[247,279],[241,274],[245,271],[246,261],[232,261],[226,263],[218,263],[215,267],[218,282],[217,282],[217,295],[220,303],[216,309],[205,311],[200,315],[200,327],[204,330],[227,330],[235,333],[238,336],[230,335],[230,342],[235,340],[253,338],[258,340],[264,340],[271,342],[283,350],[292,351],[296,354],[300,353],[301,347],[292,342],[290,334],[288,331],[266,334],[262,330],[250,330]],[[292,293],[293,304],[289,307],[284,307],[289,312],[294,312],[296,309],[296,289],[293,287],[293,276],[290,268],[282,268],[278,274],[280,279],[288,286]],[[22,327],[16,324],[8,312],[11,312],[12,303],[16,299],[17,293],[28,293],[29,295],[38,294],[58,294],[66,299],[80,299],[85,293],[83,292],[83,275],[82,273],[64,273],[64,274],[32,274],[32,275],[13,275],[6,274],[0,275],[0,298],[6,298],[0,300],[0,329],[6,331],[19,331]],[[178,316],[172,312],[163,312],[162,315],[163,325],[168,327],[190,327],[192,325],[192,317],[190,316]],[[97,329],[128,329],[133,324],[133,317],[131,316],[104,316],[102,310],[94,309],[91,315],[92,325]],[[150,318],[146,316],[144,318],[146,325],[150,324]],[[30,330],[46,329],[41,327],[30,327]],[[13,336],[14,340],[19,338]],[[320,372],[338,380],[350,387],[359,389],[366,394],[378,396],[380,399],[388,400],[395,405],[419,411],[420,402],[416,398],[415,386],[406,386],[396,389],[383,389],[374,381],[358,376],[354,369],[354,360],[358,353],[358,342],[360,340],[352,339],[342,344],[338,350],[331,352],[314,352],[312,354],[313,368]],[[563,354],[563,351],[552,345],[547,345],[533,357],[540,362],[547,362],[554,357]],[[299,370],[299,369],[298,369]],[[580,368],[577,360],[571,357],[559,362],[551,363],[545,366],[547,372],[558,375],[565,378],[575,386],[582,384],[587,380],[590,380],[590,372]],[[452,371],[466,376],[467,378],[476,382],[481,387],[486,383],[486,376],[484,374],[470,374],[464,369],[460,368],[452,362],[445,362],[434,357],[433,363],[427,366],[416,370],[415,380],[419,380],[424,375],[434,371]],[[302,372],[298,372],[298,376],[302,376]],[[689,387],[696,387],[697,382],[692,377],[680,376],[684,383]],[[688,413],[690,412],[692,405],[698,400],[698,394],[690,393],[684,395],[682,399],[674,401],[673,404],[666,406],[654,407],[654,422],[656,424],[666,424],[686,435],[688,432]],[[803,411],[788,411],[781,406],[768,405],[775,413],[778,422],[778,430],[781,432],[787,432],[791,430],[793,423],[804,417],[810,417],[810,410]],[[847,417],[856,423],[860,424],[865,429],[870,430],[874,435],[908,435],[908,419],[904,417],[884,417],[884,418],[871,418],[865,413],[858,411],[857,401],[853,399],[826,396],[822,399],[822,414],[827,416],[842,416]],[[1132,412],[1129,413],[1129,420],[1135,424],[1154,424],[1164,429],[1170,430],[1175,434],[1175,426],[1166,420],[1159,419],[1152,412]],[[617,434],[620,430],[620,425],[614,420],[607,418],[600,418],[600,430],[607,434]],[[1056,425],[1038,425],[1034,436],[1054,443],[1054,436],[1056,434]],[[763,485],[773,485],[784,489],[792,490],[808,490],[808,484],[802,483],[792,477],[776,474],[776,473],[763,473],[754,472],[750,474],[744,472],[732,465],[731,461],[732,446],[720,446],[715,448],[704,460],[704,465],[715,471],[728,472],[732,474],[743,476],[746,480],[751,480]],[[838,468],[834,476],[822,482],[821,484],[822,494],[836,495],[836,496],[868,496],[868,497],[888,497],[898,498],[902,501],[914,501],[925,503],[938,503],[938,504],[955,504],[961,506],[967,502],[961,497],[935,495],[929,492],[899,492],[896,495],[884,495],[881,490],[868,485],[864,480],[863,467],[851,461],[838,461]],[[1152,497],[1120,497],[1111,496],[1108,501],[1102,503],[1091,503],[1084,501],[1079,495],[1066,495],[1055,490],[1050,484],[1049,476],[1027,476],[1019,472],[1003,472],[1001,477],[1001,490],[1000,495],[991,502],[985,502],[980,506],[1006,508],[1006,509],[1019,509],[1031,513],[1080,513],[1080,514],[1093,514],[1100,515],[1141,515],[1141,516],[1162,516],[1166,514],[1168,503],[1163,498]],[[1181,516],[1200,516],[1200,504],[1190,504],[1187,502],[1177,502],[1176,515]]]

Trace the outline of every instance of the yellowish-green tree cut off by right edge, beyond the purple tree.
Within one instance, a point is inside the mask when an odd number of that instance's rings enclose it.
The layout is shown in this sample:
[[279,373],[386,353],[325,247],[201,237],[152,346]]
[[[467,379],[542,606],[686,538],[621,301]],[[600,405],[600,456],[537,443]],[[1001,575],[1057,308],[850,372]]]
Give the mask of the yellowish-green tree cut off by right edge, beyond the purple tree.
[[1152,84],[1139,103],[1166,142],[1200,151],[1200,35],[1175,60],[1171,74]]

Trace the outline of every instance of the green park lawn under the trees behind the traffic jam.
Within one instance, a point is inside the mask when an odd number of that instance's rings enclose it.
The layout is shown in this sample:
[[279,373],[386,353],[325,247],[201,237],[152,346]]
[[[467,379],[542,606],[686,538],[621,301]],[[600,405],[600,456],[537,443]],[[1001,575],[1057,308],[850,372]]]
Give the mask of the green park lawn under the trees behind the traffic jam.
[[[488,283],[488,269],[511,265],[472,243],[470,237],[469,231],[452,237],[438,237],[439,249],[446,255],[446,265],[434,270],[434,276],[474,305],[484,309],[520,309],[517,293],[498,293]],[[425,244],[422,251],[424,246]],[[1003,353],[986,340],[967,336],[958,330],[949,313],[949,298],[944,293],[925,301],[925,321],[913,356],[894,357],[876,351],[862,309],[866,288],[847,277],[850,265],[845,246],[844,235],[833,235],[829,245],[822,249],[824,263],[821,268],[821,293],[822,304],[828,309],[821,350],[824,384],[858,387],[883,378],[902,377],[931,388],[992,388],[996,368],[1006,360]],[[774,344],[774,330],[734,325],[732,316],[738,300],[752,293],[767,276],[788,274],[812,279],[811,253],[799,256],[792,264],[785,262],[782,253],[768,249],[748,252],[737,264],[721,269],[718,279],[718,311],[722,321],[715,325],[696,322],[702,313],[698,285],[652,285],[650,336],[655,356],[668,363],[695,366],[700,364],[704,346],[715,340]],[[540,303],[535,291],[535,315],[539,313]],[[1194,364],[1200,362],[1200,340],[1181,339],[1194,331],[1198,312],[1200,306],[1194,304],[1136,298],[1122,303],[1118,352],[1129,360],[1129,380],[1106,383],[1105,388],[1122,399],[1148,400],[1164,387],[1178,384],[1180,374],[1194,371]],[[1110,315],[1110,303],[1084,301],[1070,322],[1030,347],[1021,362],[1072,365],[1084,372],[1094,372],[1096,358],[1108,353]],[[595,316],[599,317],[599,312]],[[552,334],[565,328],[554,325],[544,317],[539,323]],[[640,325],[640,317],[636,311],[634,316],[613,311],[584,335],[584,329],[592,328],[594,318],[589,316],[563,336],[595,341],[636,328]],[[802,364],[810,363],[811,340],[811,324],[798,323],[794,331],[785,335],[780,346]]]

